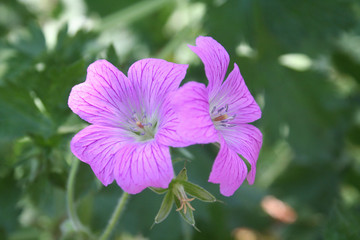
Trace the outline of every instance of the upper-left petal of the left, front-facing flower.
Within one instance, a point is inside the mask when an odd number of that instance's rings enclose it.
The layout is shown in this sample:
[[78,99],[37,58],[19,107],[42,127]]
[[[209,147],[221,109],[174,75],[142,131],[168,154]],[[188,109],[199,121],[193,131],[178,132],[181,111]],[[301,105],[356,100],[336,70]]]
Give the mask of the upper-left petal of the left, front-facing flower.
[[130,111],[129,91],[127,77],[106,60],[98,60],[88,67],[86,81],[73,87],[68,105],[89,123],[116,126]]

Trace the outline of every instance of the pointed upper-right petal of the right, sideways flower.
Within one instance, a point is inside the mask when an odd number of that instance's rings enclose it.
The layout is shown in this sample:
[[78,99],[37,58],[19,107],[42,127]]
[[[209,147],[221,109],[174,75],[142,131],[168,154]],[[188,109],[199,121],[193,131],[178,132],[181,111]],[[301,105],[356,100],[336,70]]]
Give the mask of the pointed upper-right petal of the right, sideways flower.
[[237,64],[234,64],[234,69],[210,103],[211,106],[227,104],[228,114],[236,114],[236,118],[231,123],[249,123],[261,117],[260,107],[247,88]]

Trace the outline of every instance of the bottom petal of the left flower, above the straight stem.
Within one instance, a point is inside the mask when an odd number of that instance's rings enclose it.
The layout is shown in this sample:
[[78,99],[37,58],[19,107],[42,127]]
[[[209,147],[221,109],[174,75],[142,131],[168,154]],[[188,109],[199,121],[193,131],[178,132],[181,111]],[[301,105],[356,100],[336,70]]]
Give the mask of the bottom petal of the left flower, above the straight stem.
[[173,178],[169,148],[156,141],[126,145],[116,158],[116,182],[130,194],[147,187],[167,188]]

